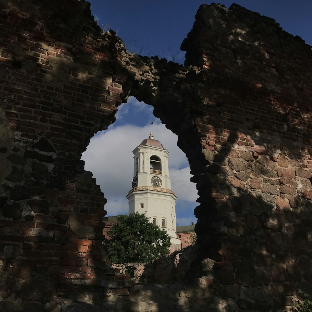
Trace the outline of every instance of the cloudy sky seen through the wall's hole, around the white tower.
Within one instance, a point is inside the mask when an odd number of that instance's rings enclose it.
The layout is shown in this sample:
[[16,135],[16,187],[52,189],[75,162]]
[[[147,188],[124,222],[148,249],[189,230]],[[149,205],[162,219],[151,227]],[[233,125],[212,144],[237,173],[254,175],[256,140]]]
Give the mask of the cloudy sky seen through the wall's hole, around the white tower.
[[149,137],[151,126],[154,139],[159,140],[170,153],[168,163],[171,189],[178,197],[176,222],[178,226],[196,223],[196,184],[189,181],[192,176],[188,160],[177,146],[178,136],[154,117],[152,106],[139,102],[134,97],[118,107],[114,124],[107,130],[98,132],[90,140],[82,154],[85,170],[93,173],[107,198],[107,215],[128,214],[126,195],[132,189],[134,175],[132,151]]

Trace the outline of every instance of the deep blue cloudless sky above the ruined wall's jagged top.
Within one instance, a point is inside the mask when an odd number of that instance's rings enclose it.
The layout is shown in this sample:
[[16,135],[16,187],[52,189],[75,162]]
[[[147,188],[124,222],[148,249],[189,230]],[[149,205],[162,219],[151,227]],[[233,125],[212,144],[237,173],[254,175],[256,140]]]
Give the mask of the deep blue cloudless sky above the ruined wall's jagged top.
[[[234,1],[215,1],[227,8]],[[91,0],[91,12],[100,27],[112,29],[127,50],[141,55],[171,57],[192,29],[194,16],[203,0]],[[211,2],[206,2],[211,4]],[[286,32],[312,45],[311,0],[240,0],[249,10],[274,18]],[[139,53],[141,52],[141,53]],[[143,54],[142,54],[143,53]],[[184,52],[180,52],[183,61]]]

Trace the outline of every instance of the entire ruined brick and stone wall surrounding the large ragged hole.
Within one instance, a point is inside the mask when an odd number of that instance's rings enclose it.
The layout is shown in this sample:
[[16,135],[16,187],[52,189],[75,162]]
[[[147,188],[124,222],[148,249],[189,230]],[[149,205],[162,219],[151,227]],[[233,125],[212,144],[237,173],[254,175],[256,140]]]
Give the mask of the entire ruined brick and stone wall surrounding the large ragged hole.
[[[185,66],[129,54],[84,0],[0,0],[0,25],[3,311],[289,311],[312,293],[310,46],[235,4],[199,8]],[[130,95],[197,183],[199,247],[176,282],[110,268],[80,160]]]

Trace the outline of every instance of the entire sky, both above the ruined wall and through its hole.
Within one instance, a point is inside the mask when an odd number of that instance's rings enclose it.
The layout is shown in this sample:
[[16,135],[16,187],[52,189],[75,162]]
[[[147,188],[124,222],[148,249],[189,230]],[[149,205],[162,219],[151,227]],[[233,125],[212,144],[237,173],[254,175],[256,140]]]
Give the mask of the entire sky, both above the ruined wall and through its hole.
[[[184,62],[180,45],[195,21],[194,16],[202,0],[91,0],[91,12],[104,30],[117,32],[130,52],[165,57]],[[206,2],[210,4],[211,2]],[[227,8],[232,1],[222,1]],[[312,1],[300,0],[241,0],[235,3],[261,15],[274,18],[291,34],[298,35],[312,45]],[[197,206],[197,191],[189,182],[188,162],[177,147],[177,137],[153,116],[153,108],[131,97],[118,108],[116,122],[108,130],[99,132],[90,141],[86,152],[85,170],[93,173],[104,196],[108,199],[108,215],[128,212],[125,196],[131,189],[133,175],[132,150],[149,136],[154,121],[154,138],[169,154],[172,190],[178,196],[176,211],[178,226],[196,222],[193,209]]]

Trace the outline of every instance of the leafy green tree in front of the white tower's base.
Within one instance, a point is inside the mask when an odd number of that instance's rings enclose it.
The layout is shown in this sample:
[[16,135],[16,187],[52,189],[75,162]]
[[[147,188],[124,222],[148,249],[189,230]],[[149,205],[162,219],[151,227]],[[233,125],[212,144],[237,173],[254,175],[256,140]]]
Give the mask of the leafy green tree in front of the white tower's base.
[[169,253],[170,236],[149,222],[144,213],[119,215],[107,234],[110,261],[118,263],[147,263]]

